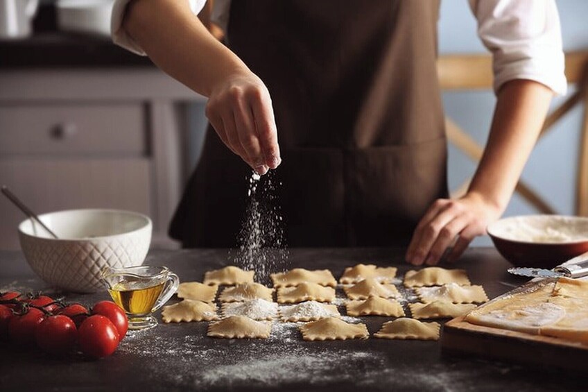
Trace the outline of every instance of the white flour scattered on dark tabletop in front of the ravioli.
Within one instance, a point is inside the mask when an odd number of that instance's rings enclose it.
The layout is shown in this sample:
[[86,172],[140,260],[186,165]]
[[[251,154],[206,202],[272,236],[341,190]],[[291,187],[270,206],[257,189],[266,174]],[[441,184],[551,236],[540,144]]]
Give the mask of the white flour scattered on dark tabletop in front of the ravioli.
[[[323,386],[331,383],[370,382],[381,374],[388,359],[381,352],[349,349],[333,342],[317,349],[307,344],[297,330],[300,323],[273,323],[269,339],[225,340],[205,336],[130,335],[116,352],[119,356],[150,359],[146,377],[166,380],[166,389],[227,390],[261,389],[300,384]],[[147,339],[148,338],[148,339]],[[212,343],[211,343],[212,342]],[[364,380],[357,379],[360,369]]]

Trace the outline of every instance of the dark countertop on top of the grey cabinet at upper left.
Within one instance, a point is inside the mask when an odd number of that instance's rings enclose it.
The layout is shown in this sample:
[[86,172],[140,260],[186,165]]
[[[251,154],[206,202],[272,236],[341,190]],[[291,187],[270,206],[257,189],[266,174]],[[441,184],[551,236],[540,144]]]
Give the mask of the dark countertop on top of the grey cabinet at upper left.
[[146,56],[99,35],[44,31],[22,40],[0,40],[0,70],[98,67],[155,66]]

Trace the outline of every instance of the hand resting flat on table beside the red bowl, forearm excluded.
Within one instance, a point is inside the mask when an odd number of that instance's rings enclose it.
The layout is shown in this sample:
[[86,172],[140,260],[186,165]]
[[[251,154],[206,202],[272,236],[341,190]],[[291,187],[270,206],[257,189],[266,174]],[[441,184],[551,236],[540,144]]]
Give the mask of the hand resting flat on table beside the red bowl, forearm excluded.
[[417,225],[406,252],[406,261],[414,265],[435,265],[453,244],[447,260],[456,260],[469,243],[486,232],[488,224],[499,219],[502,211],[484,198],[469,192],[457,200],[439,199]]

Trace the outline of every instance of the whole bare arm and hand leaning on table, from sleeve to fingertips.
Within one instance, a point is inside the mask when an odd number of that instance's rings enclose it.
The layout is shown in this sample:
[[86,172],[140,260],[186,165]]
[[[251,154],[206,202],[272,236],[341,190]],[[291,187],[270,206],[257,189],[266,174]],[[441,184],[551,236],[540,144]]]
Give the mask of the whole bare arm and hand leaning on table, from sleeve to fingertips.
[[408,246],[408,262],[437,264],[452,244],[447,259],[456,259],[499,219],[537,141],[551,96],[548,87],[531,80],[512,80],[501,88],[490,137],[467,193],[429,207]]

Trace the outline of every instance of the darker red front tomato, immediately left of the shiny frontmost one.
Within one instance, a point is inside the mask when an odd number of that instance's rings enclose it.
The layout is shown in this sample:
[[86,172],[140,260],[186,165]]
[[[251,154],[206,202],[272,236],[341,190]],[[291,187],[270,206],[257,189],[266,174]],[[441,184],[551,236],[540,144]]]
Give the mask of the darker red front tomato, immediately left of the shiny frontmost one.
[[35,330],[37,346],[50,354],[71,351],[78,340],[78,329],[71,318],[58,314],[45,318]]

